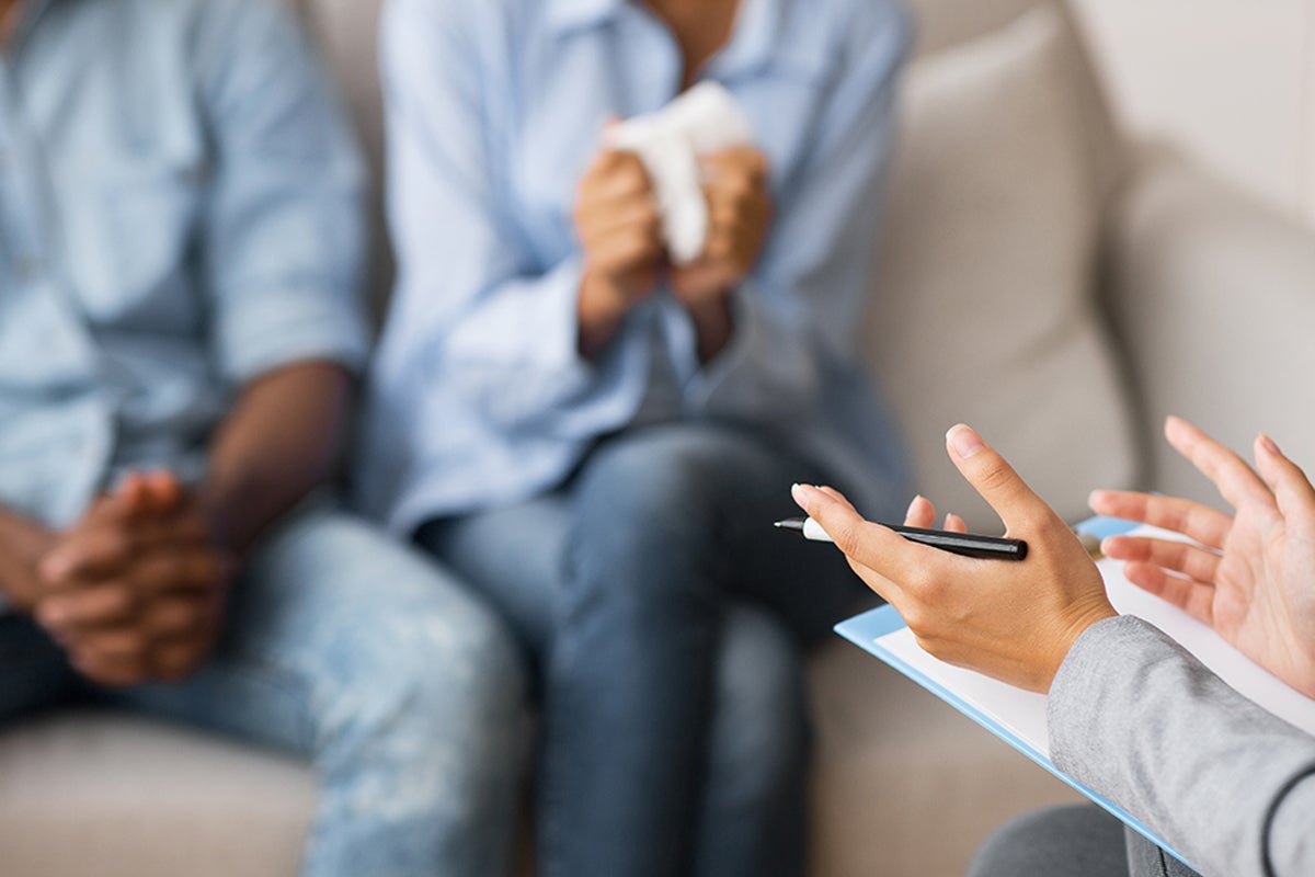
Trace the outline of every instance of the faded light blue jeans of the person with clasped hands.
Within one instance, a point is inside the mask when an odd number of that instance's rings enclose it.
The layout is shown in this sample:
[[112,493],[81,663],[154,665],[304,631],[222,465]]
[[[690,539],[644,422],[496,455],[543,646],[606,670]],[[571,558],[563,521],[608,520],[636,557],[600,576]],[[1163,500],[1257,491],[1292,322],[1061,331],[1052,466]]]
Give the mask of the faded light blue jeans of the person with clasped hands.
[[79,696],[309,757],[305,874],[510,870],[526,738],[514,646],[430,560],[351,517],[280,526],[212,660],[178,685],[95,692],[32,622],[0,615],[0,719]]

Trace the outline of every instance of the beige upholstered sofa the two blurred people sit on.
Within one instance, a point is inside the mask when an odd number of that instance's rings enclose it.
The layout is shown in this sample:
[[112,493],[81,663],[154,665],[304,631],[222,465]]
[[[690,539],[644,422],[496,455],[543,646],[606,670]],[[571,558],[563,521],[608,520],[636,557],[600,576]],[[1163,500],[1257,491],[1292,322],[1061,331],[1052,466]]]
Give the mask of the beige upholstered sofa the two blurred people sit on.
[[[1264,426],[1315,462],[1315,239],[1123,142],[1063,5],[914,5],[867,331],[923,490],[990,526],[942,458],[957,419],[1070,518],[1097,485],[1203,496],[1157,438],[1170,410],[1239,447]],[[377,0],[299,11],[377,156]],[[819,876],[959,874],[993,826],[1072,798],[847,644],[813,680]],[[0,873],[289,874],[313,798],[310,773],[275,755],[117,714],[45,717],[0,734]]]

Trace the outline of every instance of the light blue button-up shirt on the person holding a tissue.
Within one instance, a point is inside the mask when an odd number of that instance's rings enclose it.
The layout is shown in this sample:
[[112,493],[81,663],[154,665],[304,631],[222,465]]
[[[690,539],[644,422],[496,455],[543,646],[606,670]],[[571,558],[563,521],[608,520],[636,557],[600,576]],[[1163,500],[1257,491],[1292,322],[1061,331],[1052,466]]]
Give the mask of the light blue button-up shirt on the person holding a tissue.
[[734,293],[734,337],[701,364],[686,313],[658,292],[589,362],[576,187],[609,120],[676,96],[672,34],[630,0],[389,0],[398,280],[371,383],[367,508],[408,531],[551,489],[639,419],[715,418],[894,514],[903,455],[857,334],[909,37],[893,0],[742,0],[702,76],[751,118],[776,220]]

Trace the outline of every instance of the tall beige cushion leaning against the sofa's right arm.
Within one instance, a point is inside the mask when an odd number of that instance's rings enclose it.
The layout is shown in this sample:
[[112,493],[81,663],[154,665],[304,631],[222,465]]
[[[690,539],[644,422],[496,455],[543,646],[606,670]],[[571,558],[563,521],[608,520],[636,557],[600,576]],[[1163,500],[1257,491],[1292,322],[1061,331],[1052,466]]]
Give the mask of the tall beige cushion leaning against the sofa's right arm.
[[986,529],[943,434],[980,429],[1069,519],[1137,472],[1094,302],[1103,201],[1066,20],[1049,4],[919,59],[867,344],[942,510]]

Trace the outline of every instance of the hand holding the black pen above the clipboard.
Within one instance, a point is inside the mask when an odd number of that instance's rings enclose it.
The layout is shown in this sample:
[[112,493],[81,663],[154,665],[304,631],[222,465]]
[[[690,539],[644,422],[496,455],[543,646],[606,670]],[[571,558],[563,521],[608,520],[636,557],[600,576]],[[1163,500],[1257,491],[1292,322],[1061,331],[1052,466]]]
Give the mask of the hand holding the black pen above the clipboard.
[[[864,521],[830,488],[797,485],[794,498],[846,554],[869,588],[903,617],[931,655],[1035,692],[1049,690],[1077,638],[1115,615],[1105,582],[1063,519],[967,426],[949,430],[949,459],[992,505],[1022,561],[961,557]],[[915,498],[911,526],[930,526],[931,504]],[[953,529],[963,522],[949,519]]]

